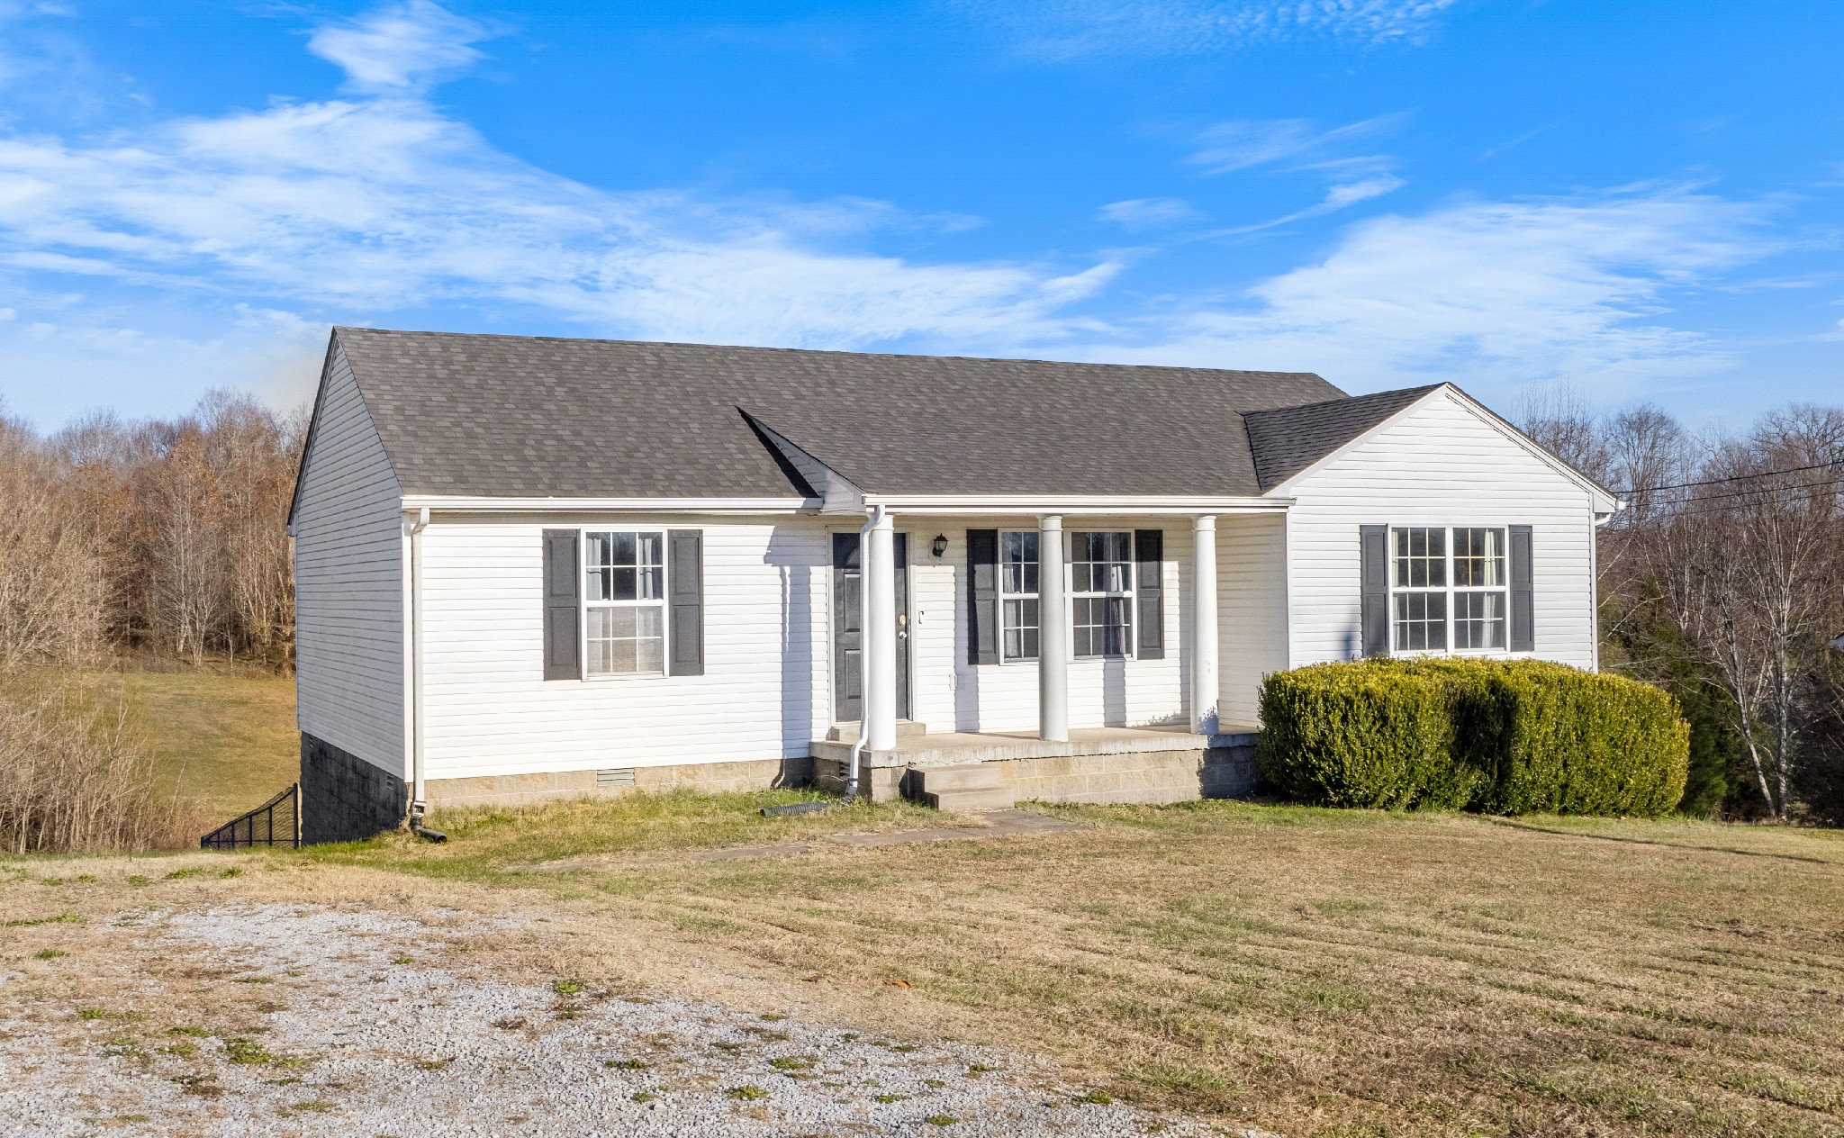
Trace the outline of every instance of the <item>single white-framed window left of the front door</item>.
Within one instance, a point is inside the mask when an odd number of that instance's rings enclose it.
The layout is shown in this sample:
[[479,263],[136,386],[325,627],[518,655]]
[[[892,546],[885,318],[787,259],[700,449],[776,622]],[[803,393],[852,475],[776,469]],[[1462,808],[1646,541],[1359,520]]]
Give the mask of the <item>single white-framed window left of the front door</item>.
[[666,533],[583,531],[583,675],[666,673]]

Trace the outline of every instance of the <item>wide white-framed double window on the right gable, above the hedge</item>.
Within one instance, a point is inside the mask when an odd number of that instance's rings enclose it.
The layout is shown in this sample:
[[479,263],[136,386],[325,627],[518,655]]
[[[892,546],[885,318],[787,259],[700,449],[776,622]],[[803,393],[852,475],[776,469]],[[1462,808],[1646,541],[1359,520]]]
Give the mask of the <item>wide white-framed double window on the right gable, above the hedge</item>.
[[1505,651],[1505,548],[1503,526],[1390,528],[1390,649]]

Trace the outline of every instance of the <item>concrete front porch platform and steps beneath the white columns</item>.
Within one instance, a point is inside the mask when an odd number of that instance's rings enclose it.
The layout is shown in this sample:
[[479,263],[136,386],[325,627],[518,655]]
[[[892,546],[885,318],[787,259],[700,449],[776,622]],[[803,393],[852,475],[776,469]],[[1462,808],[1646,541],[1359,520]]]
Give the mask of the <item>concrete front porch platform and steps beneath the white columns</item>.
[[[839,789],[850,767],[856,725],[813,740],[813,776]],[[935,793],[928,782],[983,767],[981,786],[1040,802],[1184,802],[1254,789],[1256,729],[1199,734],[1184,727],[1071,729],[1068,740],[1033,732],[922,732],[900,723],[896,745],[865,749],[859,789],[872,800]],[[957,782],[964,782],[959,780]]]

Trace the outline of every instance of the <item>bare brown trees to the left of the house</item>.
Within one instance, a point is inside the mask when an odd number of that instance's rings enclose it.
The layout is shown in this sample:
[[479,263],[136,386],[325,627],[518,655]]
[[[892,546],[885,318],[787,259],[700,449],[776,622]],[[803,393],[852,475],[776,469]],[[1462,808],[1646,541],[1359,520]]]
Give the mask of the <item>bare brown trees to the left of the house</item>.
[[288,668],[304,433],[306,415],[225,391],[52,435],[0,415],[0,668],[120,651]]

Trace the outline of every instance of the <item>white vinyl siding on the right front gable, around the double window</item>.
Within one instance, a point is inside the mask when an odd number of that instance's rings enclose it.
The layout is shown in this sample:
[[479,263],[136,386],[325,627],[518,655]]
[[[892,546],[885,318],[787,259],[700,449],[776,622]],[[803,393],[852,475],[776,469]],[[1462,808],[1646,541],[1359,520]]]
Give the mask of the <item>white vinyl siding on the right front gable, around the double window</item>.
[[[1383,524],[1438,526],[1449,544],[1455,526],[1531,526],[1534,655],[1595,666],[1588,489],[1459,397],[1425,398],[1282,492],[1294,498],[1287,539],[1293,666],[1363,655],[1357,531]],[[1392,625],[1394,616],[1392,609]],[[1228,660],[1234,647],[1224,640],[1221,651]]]

